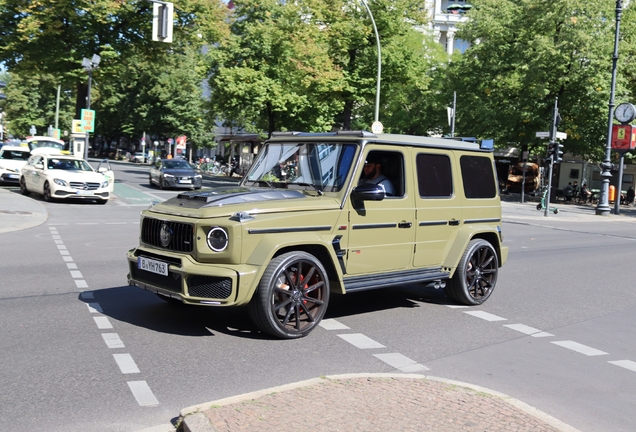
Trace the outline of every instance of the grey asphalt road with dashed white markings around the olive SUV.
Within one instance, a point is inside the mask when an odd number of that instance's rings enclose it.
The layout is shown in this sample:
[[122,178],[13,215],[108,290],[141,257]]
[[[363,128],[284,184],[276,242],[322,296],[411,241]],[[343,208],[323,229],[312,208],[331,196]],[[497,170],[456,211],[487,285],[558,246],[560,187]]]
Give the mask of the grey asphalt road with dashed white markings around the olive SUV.
[[[243,309],[175,307],[126,286],[139,212],[177,191],[151,189],[146,167],[114,167],[118,197],[106,206],[42,201],[44,224],[0,234],[3,428],[167,430],[186,406],[403,371],[407,359],[582,431],[636,430],[634,218],[542,218],[506,203],[510,256],[486,304],[457,307],[419,286],[350,294],[332,298],[310,336],[279,341]],[[338,336],[342,326],[354,336]]]

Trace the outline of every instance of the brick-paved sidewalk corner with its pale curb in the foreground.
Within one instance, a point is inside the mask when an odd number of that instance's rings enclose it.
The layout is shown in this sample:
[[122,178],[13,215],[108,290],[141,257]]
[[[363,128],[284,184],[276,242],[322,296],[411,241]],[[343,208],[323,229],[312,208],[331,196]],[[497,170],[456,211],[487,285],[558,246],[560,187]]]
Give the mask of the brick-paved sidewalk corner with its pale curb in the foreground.
[[185,408],[181,415],[183,432],[576,431],[504,394],[414,374],[315,378]]

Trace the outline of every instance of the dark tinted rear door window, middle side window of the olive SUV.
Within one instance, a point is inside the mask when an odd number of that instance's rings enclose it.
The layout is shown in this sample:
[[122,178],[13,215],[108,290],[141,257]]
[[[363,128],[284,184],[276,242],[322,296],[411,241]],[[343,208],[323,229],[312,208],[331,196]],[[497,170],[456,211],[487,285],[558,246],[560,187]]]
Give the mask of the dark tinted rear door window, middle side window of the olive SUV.
[[448,198],[453,195],[450,158],[420,153],[416,158],[417,187],[422,198]]

